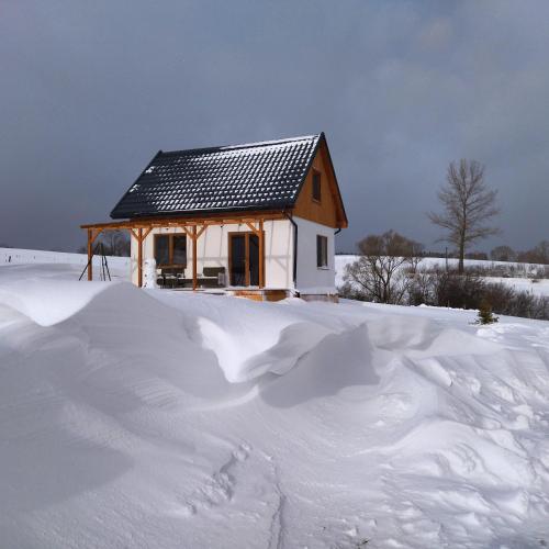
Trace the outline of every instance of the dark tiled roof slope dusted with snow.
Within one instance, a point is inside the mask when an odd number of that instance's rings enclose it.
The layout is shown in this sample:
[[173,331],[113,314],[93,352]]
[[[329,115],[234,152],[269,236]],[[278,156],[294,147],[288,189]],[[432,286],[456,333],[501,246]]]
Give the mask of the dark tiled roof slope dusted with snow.
[[291,206],[321,138],[159,152],[111,217]]

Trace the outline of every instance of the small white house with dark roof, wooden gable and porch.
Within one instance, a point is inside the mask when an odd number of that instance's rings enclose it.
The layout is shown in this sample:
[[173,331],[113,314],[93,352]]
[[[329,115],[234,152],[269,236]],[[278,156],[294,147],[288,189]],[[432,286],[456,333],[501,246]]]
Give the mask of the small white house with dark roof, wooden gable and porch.
[[[111,212],[82,225],[132,235],[132,280],[155,258],[163,285],[258,300],[335,299],[334,235],[347,227],[323,133],[159,152]],[[88,272],[91,280],[91,269]]]

